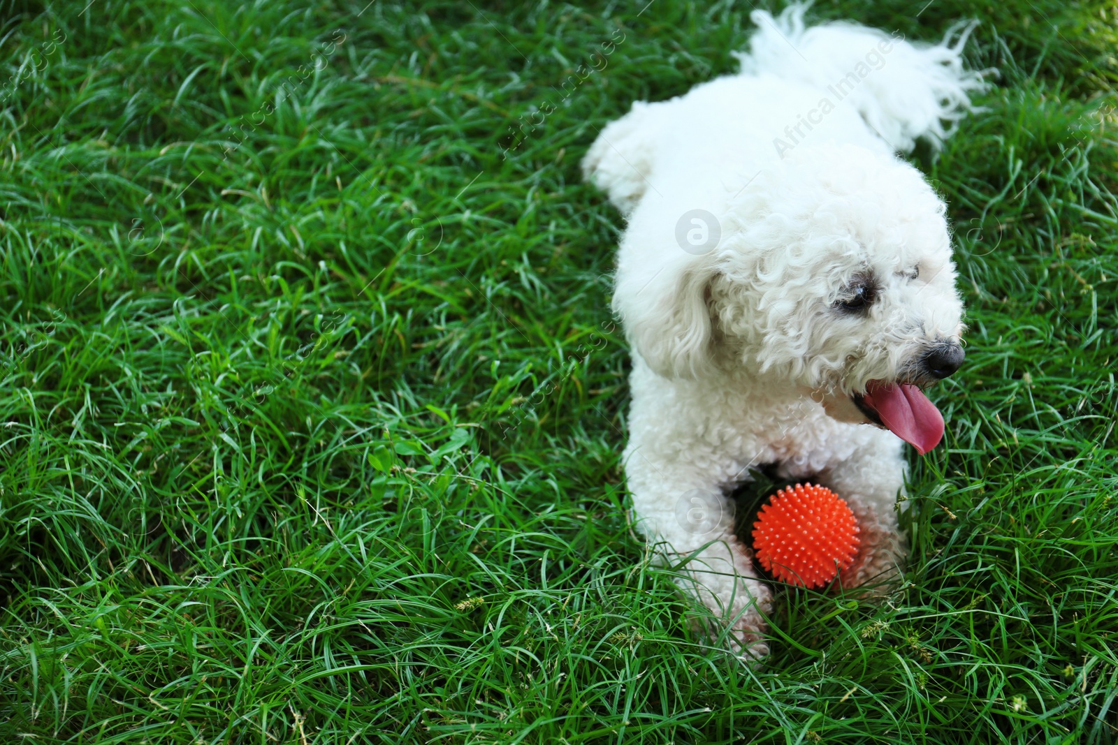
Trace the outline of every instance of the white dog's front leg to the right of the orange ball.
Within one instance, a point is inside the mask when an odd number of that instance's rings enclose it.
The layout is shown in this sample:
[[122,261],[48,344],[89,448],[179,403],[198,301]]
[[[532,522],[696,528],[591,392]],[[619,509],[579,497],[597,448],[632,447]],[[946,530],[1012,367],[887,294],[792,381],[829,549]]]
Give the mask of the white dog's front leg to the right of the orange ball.
[[907,469],[901,447],[891,433],[874,431],[852,457],[819,474],[819,480],[845,499],[858,518],[858,557],[841,575],[846,588],[868,584],[882,594],[888,592],[908,556],[908,541],[897,520]]

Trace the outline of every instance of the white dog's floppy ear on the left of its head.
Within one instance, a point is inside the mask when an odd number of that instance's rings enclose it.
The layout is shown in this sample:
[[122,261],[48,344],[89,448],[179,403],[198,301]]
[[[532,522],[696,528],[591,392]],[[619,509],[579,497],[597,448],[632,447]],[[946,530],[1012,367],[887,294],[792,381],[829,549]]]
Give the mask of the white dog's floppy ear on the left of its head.
[[[712,257],[671,257],[622,262],[613,308],[625,335],[652,370],[664,378],[700,378],[710,370]],[[645,259],[646,257],[639,257]]]

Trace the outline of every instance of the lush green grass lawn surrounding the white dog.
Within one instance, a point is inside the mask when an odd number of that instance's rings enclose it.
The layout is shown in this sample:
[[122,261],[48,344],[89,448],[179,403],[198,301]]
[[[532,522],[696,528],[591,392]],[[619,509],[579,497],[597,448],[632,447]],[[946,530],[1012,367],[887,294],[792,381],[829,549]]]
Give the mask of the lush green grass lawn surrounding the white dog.
[[1001,77],[915,156],[970,332],[903,585],[756,670],[626,523],[578,171],[748,3],[83,6],[0,2],[0,742],[1118,739],[1112,6],[813,9]]

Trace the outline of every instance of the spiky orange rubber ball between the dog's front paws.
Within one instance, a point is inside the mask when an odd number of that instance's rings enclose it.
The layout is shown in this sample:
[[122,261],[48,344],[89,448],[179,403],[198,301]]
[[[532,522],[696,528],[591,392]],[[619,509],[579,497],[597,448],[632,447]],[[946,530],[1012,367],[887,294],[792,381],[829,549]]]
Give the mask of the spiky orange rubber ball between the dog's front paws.
[[858,554],[858,520],[845,500],[823,486],[779,489],[754,523],[754,548],[781,582],[822,588]]

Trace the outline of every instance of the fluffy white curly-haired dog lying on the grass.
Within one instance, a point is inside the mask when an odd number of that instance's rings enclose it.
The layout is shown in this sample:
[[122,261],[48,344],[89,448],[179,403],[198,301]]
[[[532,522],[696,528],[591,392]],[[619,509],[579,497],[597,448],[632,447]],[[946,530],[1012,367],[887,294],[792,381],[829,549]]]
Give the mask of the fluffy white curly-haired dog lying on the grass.
[[861,526],[844,585],[888,579],[902,440],[940,441],[921,389],[964,357],[946,208],[896,152],[970,108],[968,29],[917,46],[804,11],[755,11],[739,74],[633,104],[582,164],[627,219],[613,305],[635,516],[754,656],[770,591],[723,491],[769,464],[831,487]]

